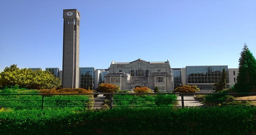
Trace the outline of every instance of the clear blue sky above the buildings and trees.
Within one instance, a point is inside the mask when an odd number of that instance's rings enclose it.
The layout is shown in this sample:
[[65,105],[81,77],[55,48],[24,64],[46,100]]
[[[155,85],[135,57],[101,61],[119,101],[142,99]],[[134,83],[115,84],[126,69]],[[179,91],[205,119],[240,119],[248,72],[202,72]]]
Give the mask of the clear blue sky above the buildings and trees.
[[62,69],[63,9],[80,11],[80,67],[170,60],[172,68],[238,68],[256,55],[255,0],[1,0],[0,71]]

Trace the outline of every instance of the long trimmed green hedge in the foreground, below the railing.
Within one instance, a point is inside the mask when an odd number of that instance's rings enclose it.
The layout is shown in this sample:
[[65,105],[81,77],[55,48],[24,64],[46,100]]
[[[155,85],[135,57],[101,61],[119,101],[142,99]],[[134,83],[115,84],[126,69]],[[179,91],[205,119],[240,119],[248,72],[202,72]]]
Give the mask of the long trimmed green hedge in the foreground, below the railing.
[[256,108],[0,110],[0,134],[255,134]]

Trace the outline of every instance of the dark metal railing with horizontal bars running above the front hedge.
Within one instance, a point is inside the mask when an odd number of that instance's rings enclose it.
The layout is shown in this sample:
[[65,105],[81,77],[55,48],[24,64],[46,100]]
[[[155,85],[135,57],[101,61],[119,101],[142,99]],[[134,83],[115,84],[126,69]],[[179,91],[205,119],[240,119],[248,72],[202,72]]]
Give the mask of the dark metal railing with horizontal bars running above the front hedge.
[[[44,107],[109,107],[112,109],[113,107],[158,107],[158,106],[120,106],[114,105],[113,101],[181,101],[181,106],[171,106],[171,107],[185,107],[184,101],[256,101],[256,100],[188,100],[184,99],[184,96],[187,95],[246,95],[246,96],[254,96],[256,93],[56,93],[56,94],[0,94],[0,96],[8,96],[8,95],[38,95],[42,96],[41,100],[27,100],[27,99],[1,99],[0,107],[41,107],[44,110]],[[49,100],[45,99],[47,96],[53,95],[108,95],[109,99],[54,99]],[[161,99],[113,99],[114,95],[177,95],[180,96],[180,100],[161,100]],[[1,101],[40,101],[41,105],[2,105]],[[109,105],[59,105],[59,106],[47,106],[45,105],[45,101],[110,101]],[[160,106],[160,107],[170,107],[170,106]],[[186,107],[194,107],[194,106],[186,106]],[[204,106],[208,107],[208,106]]]

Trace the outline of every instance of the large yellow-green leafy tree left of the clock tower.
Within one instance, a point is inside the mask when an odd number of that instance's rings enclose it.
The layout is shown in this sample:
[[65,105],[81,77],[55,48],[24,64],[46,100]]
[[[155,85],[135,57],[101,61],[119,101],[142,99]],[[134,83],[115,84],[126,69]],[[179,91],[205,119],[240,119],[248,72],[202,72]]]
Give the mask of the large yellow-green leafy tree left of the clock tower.
[[54,88],[61,85],[61,79],[55,77],[49,71],[19,69],[15,64],[5,67],[0,76],[2,86],[19,85],[29,89],[40,89]]

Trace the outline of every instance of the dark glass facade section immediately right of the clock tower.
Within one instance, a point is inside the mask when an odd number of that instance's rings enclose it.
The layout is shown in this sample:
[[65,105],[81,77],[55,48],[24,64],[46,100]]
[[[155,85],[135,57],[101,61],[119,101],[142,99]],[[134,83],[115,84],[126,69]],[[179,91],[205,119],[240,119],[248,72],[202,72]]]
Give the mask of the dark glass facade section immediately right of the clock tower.
[[94,67],[80,67],[80,88],[94,89],[94,76],[95,76],[95,68]]

